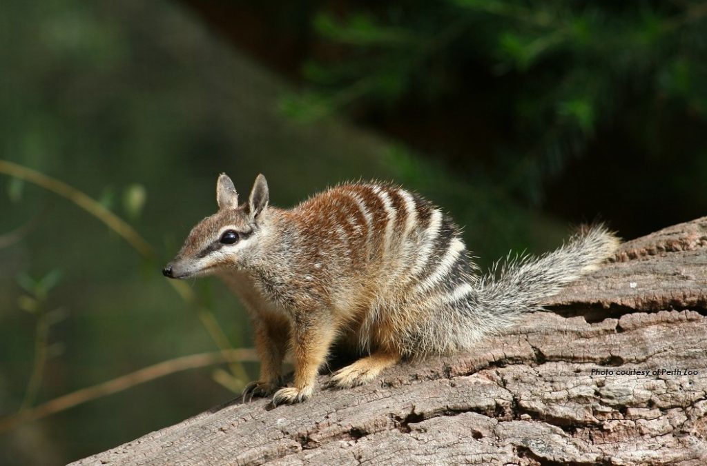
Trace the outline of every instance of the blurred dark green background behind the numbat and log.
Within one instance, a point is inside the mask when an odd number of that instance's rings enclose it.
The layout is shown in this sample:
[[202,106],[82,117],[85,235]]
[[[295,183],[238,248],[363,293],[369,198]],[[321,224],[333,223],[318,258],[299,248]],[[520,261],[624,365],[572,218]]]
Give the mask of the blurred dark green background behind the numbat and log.
[[397,181],[484,266],[707,212],[707,1],[9,0],[0,37],[3,465],[255,377],[219,352],[252,345],[225,287],[160,274],[221,172],[242,195],[264,173],[280,206]]

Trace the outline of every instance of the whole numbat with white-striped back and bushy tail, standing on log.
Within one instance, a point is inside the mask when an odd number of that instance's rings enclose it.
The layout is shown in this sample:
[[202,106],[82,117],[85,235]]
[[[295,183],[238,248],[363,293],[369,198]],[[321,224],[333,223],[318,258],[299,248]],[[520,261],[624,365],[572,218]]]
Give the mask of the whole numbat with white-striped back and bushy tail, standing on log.
[[[604,227],[592,227],[556,251],[481,276],[450,217],[399,186],[343,184],[291,210],[268,199],[258,175],[239,205],[222,174],[218,212],[192,229],[163,273],[218,275],[235,290],[262,361],[259,380],[244,394],[274,393],[275,405],[312,396],[335,340],[367,354],[332,376],[338,387],[371,381],[404,357],[469,349],[541,309],[619,244]],[[294,383],[281,387],[288,349]]]

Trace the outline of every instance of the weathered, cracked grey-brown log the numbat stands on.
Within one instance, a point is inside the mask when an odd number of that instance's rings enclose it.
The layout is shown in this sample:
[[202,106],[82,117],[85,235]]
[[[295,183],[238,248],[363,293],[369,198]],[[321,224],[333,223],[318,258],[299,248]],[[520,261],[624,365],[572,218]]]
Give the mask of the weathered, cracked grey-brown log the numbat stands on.
[[707,217],[664,229],[475,352],[232,402],[73,464],[706,464],[706,251]]

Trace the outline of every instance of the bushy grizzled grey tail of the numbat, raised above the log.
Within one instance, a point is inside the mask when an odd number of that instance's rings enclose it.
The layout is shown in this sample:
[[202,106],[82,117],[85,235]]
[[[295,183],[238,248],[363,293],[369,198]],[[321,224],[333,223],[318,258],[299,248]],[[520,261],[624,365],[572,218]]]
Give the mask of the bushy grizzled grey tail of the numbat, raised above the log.
[[578,232],[555,251],[539,257],[525,256],[497,263],[477,285],[480,309],[488,311],[499,330],[508,327],[514,317],[542,309],[547,298],[581,275],[596,270],[612,256],[619,238],[603,225]]

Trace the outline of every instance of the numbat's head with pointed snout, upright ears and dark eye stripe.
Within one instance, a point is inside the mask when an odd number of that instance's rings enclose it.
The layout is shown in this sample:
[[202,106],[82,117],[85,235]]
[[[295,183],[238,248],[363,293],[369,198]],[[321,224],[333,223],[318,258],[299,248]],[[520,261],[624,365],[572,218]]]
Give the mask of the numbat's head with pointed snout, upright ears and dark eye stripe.
[[164,268],[165,276],[198,277],[247,265],[267,222],[267,181],[258,175],[247,203],[238,205],[233,181],[221,174],[216,202],[218,212],[192,229],[180,253]]

